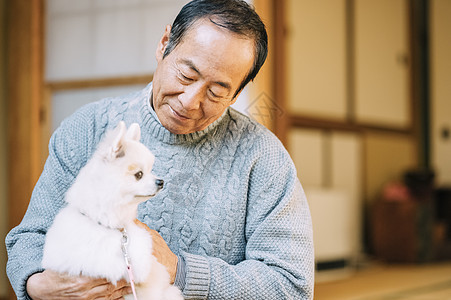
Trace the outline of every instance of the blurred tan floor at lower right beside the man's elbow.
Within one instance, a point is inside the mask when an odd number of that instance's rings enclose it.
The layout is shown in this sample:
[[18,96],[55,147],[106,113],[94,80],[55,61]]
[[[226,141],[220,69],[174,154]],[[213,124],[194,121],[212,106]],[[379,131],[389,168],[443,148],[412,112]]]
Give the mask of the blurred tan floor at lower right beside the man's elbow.
[[[317,276],[321,278],[321,276]],[[315,285],[317,300],[451,300],[451,262],[374,263],[346,278]]]

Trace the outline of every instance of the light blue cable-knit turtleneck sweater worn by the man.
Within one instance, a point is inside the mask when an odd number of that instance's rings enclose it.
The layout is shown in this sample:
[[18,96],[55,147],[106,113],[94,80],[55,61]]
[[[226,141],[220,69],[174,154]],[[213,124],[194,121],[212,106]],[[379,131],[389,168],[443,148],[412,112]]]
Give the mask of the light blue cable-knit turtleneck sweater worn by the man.
[[26,280],[42,271],[44,235],[64,193],[120,120],[140,124],[166,183],[138,218],[184,258],[185,299],[312,299],[310,213],[281,143],[231,108],[203,131],[172,134],[149,105],[151,89],[88,104],[53,134],[27,213],[6,238],[18,299],[28,299]]

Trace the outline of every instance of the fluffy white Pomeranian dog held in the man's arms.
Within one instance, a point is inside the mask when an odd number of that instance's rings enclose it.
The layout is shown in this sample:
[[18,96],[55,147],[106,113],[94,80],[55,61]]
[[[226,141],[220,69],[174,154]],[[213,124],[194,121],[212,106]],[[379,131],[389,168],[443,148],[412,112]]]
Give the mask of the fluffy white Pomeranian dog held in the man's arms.
[[152,173],[154,156],[139,142],[138,124],[120,122],[100,142],[66,194],[67,206],[49,228],[42,267],[72,276],[131,282],[126,299],[182,300],[166,268],[152,255],[152,238],[135,223],[138,204],[163,180]]

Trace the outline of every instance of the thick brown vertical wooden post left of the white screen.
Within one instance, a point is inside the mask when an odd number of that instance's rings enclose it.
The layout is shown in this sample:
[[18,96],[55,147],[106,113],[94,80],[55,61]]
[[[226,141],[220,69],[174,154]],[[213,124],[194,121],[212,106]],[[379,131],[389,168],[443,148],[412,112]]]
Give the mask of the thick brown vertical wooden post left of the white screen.
[[43,4],[43,0],[17,0],[7,6],[10,228],[22,219],[42,166]]

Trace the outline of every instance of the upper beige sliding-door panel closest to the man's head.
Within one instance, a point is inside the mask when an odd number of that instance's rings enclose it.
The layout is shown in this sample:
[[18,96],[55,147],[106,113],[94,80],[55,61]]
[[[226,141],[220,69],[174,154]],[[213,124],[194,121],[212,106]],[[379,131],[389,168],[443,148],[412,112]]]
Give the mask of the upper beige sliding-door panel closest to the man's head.
[[286,5],[288,109],[344,121],[345,0],[290,0]]

